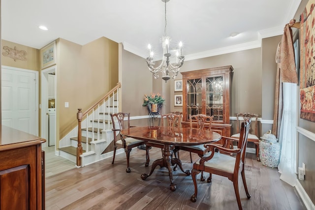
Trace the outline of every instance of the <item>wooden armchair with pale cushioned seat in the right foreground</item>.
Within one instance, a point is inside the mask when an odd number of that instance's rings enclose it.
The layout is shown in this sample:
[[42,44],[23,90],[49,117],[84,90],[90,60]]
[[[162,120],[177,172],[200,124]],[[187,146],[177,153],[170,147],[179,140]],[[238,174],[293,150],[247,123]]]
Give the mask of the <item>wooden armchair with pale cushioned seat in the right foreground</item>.
[[[197,200],[197,181],[196,175],[200,172],[208,172],[210,176],[208,178],[208,182],[212,182],[212,174],[216,174],[222,177],[226,177],[233,182],[234,191],[236,195],[237,204],[240,210],[242,210],[242,204],[240,199],[240,192],[238,187],[238,178],[239,175],[242,176],[245,192],[247,198],[251,198],[251,195],[247,188],[246,178],[245,178],[245,153],[246,146],[248,141],[248,135],[251,125],[251,119],[248,119],[242,122],[241,132],[239,138],[239,144],[237,149],[227,149],[214,144],[206,144],[205,147],[209,148],[211,152],[209,152],[208,156],[202,157],[199,161],[193,164],[193,168],[191,171],[191,177],[194,184],[194,194],[190,197],[192,202],[196,202]],[[222,139],[225,141],[229,140],[229,137],[222,136]],[[215,150],[220,150],[228,153],[236,153],[236,157],[231,155],[221,154],[220,152],[215,152]]]

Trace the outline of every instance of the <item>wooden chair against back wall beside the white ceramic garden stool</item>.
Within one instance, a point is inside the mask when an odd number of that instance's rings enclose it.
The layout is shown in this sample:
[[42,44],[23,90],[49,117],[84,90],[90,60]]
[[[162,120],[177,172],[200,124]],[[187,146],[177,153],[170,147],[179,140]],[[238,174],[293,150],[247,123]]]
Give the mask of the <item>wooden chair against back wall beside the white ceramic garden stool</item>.
[[[258,138],[258,114],[251,114],[251,113],[237,113],[236,114],[236,130],[239,131],[240,125],[243,121],[246,121],[248,119],[254,119],[252,120],[252,124],[250,127],[250,131],[248,134],[248,141],[253,142],[255,145],[256,150],[256,158],[257,161],[260,161],[259,157],[259,138]],[[254,127],[254,130],[252,131],[252,127]],[[254,132],[254,134],[251,134],[251,132]],[[240,133],[233,134],[231,137],[239,139]],[[236,141],[237,142],[237,141]]]

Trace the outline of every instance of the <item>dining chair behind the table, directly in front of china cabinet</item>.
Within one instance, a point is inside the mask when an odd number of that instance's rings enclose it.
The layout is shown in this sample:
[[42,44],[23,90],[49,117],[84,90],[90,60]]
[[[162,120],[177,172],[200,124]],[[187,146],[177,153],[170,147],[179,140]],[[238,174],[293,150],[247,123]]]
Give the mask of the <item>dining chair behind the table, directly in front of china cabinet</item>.
[[[196,121],[198,129],[211,130],[212,120],[213,120],[213,116],[207,116],[207,115],[203,115],[203,114],[189,115],[190,128],[192,128],[192,121]],[[205,148],[203,145],[176,146],[175,147],[175,151],[178,151],[178,150],[189,151],[190,162],[192,163],[191,152],[198,154],[199,157],[203,157],[209,151],[209,148]],[[179,153],[177,152],[176,154],[177,154],[177,156],[179,158]],[[203,176],[203,173],[201,174],[200,180],[201,181],[205,180],[205,177]]]

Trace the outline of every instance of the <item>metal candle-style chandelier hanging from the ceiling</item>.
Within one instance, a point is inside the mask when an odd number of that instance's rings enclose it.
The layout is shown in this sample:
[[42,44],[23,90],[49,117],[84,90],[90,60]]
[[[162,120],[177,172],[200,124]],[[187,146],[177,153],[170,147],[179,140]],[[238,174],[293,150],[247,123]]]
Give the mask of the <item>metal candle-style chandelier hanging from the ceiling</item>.
[[160,39],[160,42],[162,43],[162,48],[163,48],[163,58],[161,61],[161,64],[158,67],[155,66],[155,62],[153,62],[153,51],[151,49],[151,45],[148,44],[149,48],[149,57],[147,58],[146,62],[148,64],[149,70],[153,73],[154,78],[158,79],[158,73],[160,72],[162,74],[162,79],[169,80],[172,76],[173,79],[177,76],[180,67],[184,64],[185,56],[182,55],[182,46],[183,43],[179,43],[179,50],[176,52],[176,63],[170,63],[170,57],[171,54],[168,52],[169,48],[169,42],[170,38],[169,36],[166,35],[166,2],[169,0],[162,0],[165,2],[165,27],[164,27],[164,36]]

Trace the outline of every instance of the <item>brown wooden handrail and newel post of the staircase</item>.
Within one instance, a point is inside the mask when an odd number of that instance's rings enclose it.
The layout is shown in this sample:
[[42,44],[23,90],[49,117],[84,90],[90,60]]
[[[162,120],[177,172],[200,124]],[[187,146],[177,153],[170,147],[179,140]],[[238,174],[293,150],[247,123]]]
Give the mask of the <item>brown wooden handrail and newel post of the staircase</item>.
[[[78,146],[77,146],[77,150],[76,150],[76,165],[77,166],[81,166],[81,158],[80,155],[83,153],[83,149],[82,149],[82,131],[81,131],[81,122],[82,119],[91,112],[91,110],[93,110],[96,106],[98,106],[99,108],[99,104],[105,100],[106,97],[109,97],[111,94],[113,94],[116,90],[118,90],[121,87],[121,83],[117,83],[117,85],[111,89],[108,93],[106,93],[106,95],[104,95],[101,99],[99,99],[93,106],[91,106],[89,109],[87,109],[87,111],[85,111],[84,113],[82,113],[82,109],[78,108],[78,113],[77,113],[77,120],[78,120]],[[99,120],[98,120],[99,122]],[[87,132],[88,132],[88,128],[87,128]],[[99,134],[99,132],[98,132]],[[94,134],[93,134],[94,135]],[[88,134],[87,134],[88,136]],[[92,138],[94,139],[94,138]],[[94,141],[94,140],[93,140]],[[88,147],[88,137],[87,137],[87,147]]]

